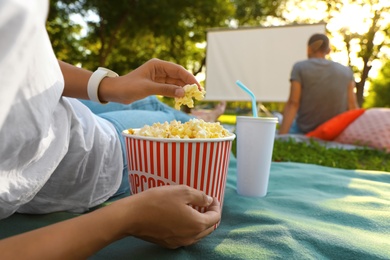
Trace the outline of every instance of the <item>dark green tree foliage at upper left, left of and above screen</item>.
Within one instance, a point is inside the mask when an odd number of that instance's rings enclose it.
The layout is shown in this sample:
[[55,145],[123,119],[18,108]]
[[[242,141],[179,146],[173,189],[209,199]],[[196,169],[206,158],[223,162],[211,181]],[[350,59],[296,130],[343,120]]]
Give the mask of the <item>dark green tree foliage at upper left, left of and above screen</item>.
[[[112,4],[101,0],[57,0],[51,2],[47,27],[51,38],[61,43],[54,46],[55,52],[87,69],[107,66],[122,74],[157,57],[181,64],[196,75],[205,65],[204,43],[209,28],[229,27],[231,21],[258,25],[261,18],[276,15],[278,4],[284,1],[116,0]],[[85,35],[71,32],[72,14],[84,18]],[[54,25],[68,30],[53,34]],[[73,39],[62,41],[64,38]],[[72,45],[76,48],[67,50]]]

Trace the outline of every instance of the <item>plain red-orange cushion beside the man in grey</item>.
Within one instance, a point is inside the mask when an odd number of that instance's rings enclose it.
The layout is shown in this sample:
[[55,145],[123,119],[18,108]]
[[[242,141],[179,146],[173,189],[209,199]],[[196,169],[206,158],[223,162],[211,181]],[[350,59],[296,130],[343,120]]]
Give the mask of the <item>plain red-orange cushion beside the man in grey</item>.
[[319,125],[316,129],[307,133],[306,136],[331,141],[340,135],[356,118],[361,116],[364,111],[364,108],[358,108],[341,113]]

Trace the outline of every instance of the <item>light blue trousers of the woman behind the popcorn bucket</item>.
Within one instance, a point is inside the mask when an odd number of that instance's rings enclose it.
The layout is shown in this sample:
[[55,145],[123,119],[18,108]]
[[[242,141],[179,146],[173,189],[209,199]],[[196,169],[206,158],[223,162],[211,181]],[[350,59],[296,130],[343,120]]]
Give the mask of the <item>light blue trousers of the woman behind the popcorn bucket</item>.
[[138,100],[129,105],[119,103],[108,103],[106,105],[102,105],[89,100],[80,101],[89,107],[94,114],[111,122],[121,141],[124,162],[122,184],[114,196],[130,191],[126,147],[122,136],[123,130],[128,128],[140,128],[144,125],[151,125],[156,122],[163,123],[165,121],[170,122],[172,120],[187,122],[189,119],[193,118],[184,112],[162,103],[155,96]]

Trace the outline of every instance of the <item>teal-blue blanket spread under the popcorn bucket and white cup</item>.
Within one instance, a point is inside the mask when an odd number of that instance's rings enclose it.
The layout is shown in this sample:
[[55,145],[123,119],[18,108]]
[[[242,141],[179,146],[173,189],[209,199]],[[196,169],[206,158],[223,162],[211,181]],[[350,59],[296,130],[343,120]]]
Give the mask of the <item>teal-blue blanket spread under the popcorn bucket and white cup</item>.
[[[222,222],[195,245],[169,250],[128,237],[91,259],[390,259],[390,173],[273,163],[268,194],[236,193],[232,158]],[[15,214],[0,237],[72,217]]]

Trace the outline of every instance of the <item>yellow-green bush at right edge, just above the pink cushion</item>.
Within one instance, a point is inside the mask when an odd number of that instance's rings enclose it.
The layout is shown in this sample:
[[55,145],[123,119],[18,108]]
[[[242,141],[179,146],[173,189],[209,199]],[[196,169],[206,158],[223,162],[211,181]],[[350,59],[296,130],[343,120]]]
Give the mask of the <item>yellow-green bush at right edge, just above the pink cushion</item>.
[[378,78],[372,81],[364,106],[390,107],[390,62],[382,67]]

